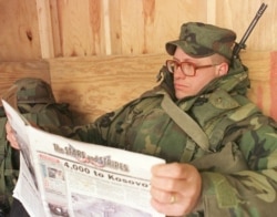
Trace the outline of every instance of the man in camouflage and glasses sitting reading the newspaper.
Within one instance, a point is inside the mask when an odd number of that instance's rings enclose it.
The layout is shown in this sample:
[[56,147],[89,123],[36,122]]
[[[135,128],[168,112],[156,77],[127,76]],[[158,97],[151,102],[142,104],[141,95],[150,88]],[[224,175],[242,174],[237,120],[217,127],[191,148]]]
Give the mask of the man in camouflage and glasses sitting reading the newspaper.
[[[277,213],[277,124],[247,99],[235,40],[228,29],[184,23],[165,45],[173,58],[160,85],[74,128],[81,141],[166,159],[151,180],[151,204],[166,216]],[[9,124],[7,132],[17,147]]]

